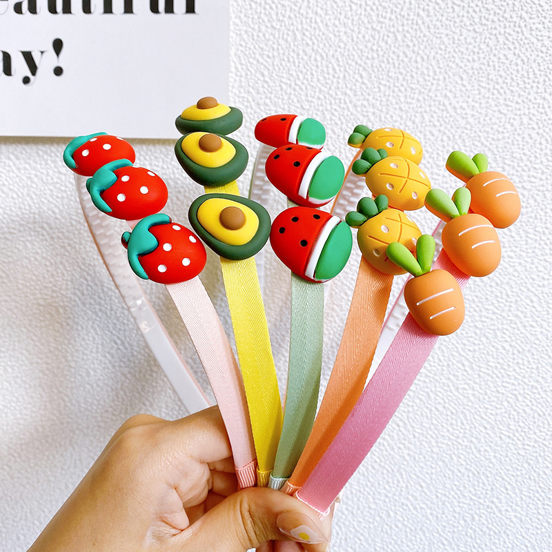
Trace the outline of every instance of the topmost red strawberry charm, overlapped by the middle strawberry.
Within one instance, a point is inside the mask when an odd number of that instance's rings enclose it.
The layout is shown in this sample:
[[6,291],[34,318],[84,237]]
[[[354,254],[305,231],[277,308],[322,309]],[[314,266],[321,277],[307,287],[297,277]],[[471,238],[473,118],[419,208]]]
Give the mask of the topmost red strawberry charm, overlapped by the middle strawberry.
[[65,164],[83,177],[91,177],[100,167],[116,159],[128,159],[134,163],[134,149],[128,141],[105,132],[77,136],[63,151]]

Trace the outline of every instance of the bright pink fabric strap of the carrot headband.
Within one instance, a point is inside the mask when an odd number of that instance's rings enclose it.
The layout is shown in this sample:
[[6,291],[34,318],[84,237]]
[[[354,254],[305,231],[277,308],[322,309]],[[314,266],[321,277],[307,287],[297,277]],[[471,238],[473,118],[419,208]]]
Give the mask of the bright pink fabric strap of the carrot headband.
[[[469,276],[442,251],[435,268],[448,270],[464,288]],[[426,362],[437,335],[424,332],[408,315],[380,366],[364,388],[337,437],[295,496],[326,515],[402,402]]]

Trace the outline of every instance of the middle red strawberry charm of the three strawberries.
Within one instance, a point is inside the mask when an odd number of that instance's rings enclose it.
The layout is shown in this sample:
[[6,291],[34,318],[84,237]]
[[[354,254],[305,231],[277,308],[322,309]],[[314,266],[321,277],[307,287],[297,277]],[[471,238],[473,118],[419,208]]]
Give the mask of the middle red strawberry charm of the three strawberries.
[[110,217],[143,219],[164,208],[167,186],[155,172],[135,167],[126,159],[111,161],[86,181],[92,202]]

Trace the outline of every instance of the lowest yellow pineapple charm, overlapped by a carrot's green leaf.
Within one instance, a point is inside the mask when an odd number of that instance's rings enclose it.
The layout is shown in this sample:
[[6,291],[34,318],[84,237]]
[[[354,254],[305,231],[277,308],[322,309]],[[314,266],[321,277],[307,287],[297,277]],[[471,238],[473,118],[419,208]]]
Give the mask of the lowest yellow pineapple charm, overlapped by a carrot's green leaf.
[[422,232],[406,213],[389,208],[385,195],[378,195],[375,199],[363,197],[357,204],[357,210],[348,213],[345,221],[349,226],[358,228],[359,248],[376,270],[388,275],[406,272],[388,259],[387,246],[391,242],[399,242],[415,252]]

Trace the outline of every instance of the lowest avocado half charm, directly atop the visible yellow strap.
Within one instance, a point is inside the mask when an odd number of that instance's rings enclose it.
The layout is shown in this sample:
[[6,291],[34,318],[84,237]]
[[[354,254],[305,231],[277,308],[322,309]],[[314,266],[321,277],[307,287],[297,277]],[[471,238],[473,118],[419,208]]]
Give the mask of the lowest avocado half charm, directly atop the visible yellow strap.
[[197,235],[217,255],[233,261],[253,257],[270,234],[266,209],[239,195],[201,195],[190,205],[188,218]]

